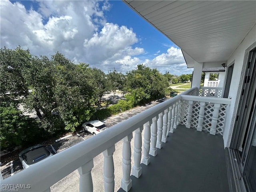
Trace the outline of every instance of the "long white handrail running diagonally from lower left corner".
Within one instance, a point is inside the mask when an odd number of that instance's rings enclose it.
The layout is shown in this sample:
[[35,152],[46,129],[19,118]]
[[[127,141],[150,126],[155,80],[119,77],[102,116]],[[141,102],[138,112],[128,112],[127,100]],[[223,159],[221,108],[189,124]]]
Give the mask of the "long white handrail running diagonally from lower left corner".
[[[22,172],[18,172],[2,180],[1,184],[14,184],[14,186],[17,184],[29,184],[31,191],[46,191],[50,186],[86,164],[98,154],[122,140],[122,138],[134,132],[140,126],[143,126],[149,120],[152,120],[152,118],[166,110],[172,104],[178,102],[182,98],[182,95],[188,94],[195,89],[197,88],[186,90],[166,102],[145,110],[120,124],[116,124],[101,134],[97,134],[94,137],[67,148],[47,158],[47,160],[42,160],[39,164],[35,164]],[[19,191],[28,191],[28,189],[20,188]]]

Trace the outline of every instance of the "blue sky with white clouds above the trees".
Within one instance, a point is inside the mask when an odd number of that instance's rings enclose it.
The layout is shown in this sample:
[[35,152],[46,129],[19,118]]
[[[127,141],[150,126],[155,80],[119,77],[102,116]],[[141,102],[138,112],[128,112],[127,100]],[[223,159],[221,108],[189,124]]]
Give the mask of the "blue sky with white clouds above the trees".
[[[1,48],[59,51],[75,63],[125,73],[145,64],[189,74],[181,50],[122,1],[0,1]],[[15,14],[13,14],[15,12]]]

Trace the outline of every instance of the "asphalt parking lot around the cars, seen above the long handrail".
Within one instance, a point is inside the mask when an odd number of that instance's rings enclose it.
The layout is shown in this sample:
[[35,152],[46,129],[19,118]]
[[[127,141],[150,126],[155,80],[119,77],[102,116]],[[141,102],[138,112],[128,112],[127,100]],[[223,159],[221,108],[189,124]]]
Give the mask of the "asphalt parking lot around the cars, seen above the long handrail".
[[[164,100],[166,100],[166,98],[159,100],[159,101],[158,100],[153,101],[144,106],[136,107],[132,110],[123,112],[116,116],[112,116],[103,122],[106,124],[106,126],[108,126],[108,128],[110,128],[110,127],[114,126],[115,124],[118,124],[124,120],[127,120],[128,118],[131,118],[132,116],[139,114],[140,112],[147,110],[148,108],[151,108],[152,106],[155,106],[156,104],[158,104],[160,102],[163,102]],[[49,144],[47,146],[47,148],[50,150],[50,152],[52,152],[52,154],[56,154],[56,153],[59,153],[59,152],[65,150],[66,148],[69,148],[75,144],[78,144],[79,142],[86,140],[90,137],[92,137],[92,134],[90,134],[88,132],[83,132],[82,130],[80,130],[80,131],[74,132],[72,134],[69,134],[63,138],[56,138],[56,140],[54,140],[52,142],[52,144]],[[96,158],[100,158],[100,157],[97,156]],[[22,164],[20,163],[20,160],[18,158],[18,153],[17,153],[17,158],[14,158],[14,160],[12,160],[10,162],[4,161],[1,164],[1,172],[2,172],[2,176],[4,179],[12,176],[13,174],[16,174],[16,173],[22,171],[22,170],[23,170],[23,168],[22,168]],[[56,191],[59,191],[59,190],[56,190]]]

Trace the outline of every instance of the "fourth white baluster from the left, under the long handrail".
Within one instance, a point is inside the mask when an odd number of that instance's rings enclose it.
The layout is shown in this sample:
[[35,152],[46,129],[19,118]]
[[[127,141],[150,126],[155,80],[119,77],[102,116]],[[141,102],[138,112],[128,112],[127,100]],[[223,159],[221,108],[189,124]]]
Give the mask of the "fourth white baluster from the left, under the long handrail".
[[141,132],[143,130],[143,126],[135,130],[134,135],[134,166],[132,167],[132,175],[136,178],[139,178],[142,172],[142,168],[140,166],[141,160],[141,147],[142,147],[142,138]]

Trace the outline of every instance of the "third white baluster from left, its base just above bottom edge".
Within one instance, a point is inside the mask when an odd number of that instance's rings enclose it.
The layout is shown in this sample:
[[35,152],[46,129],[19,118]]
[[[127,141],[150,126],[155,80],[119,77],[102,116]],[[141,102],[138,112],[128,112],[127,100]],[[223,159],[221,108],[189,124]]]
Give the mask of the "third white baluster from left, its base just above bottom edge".
[[128,192],[132,187],[132,180],[130,178],[131,173],[131,140],[132,133],[123,138],[123,160],[122,160],[122,168],[123,168],[123,178],[121,180],[121,188]]

